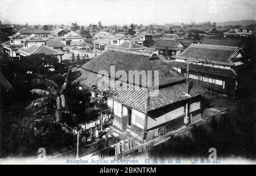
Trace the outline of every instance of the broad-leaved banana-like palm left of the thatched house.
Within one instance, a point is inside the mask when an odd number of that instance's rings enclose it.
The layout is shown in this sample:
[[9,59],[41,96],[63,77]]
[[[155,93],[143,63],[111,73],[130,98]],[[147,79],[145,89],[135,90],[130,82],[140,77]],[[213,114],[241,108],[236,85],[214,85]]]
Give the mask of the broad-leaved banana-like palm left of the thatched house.
[[50,79],[32,79],[32,84],[36,86],[44,86],[44,89],[32,89],[31,93],[39,95],[40,98],[32,101],[27,109],[38,110],[37,114],[40,115],[40,119],[43,119],[45,115],[53,115],[54,121],[59,124],[63,123],[63,114],[72,116],[71,111],[68,110],[65,98],[65,92],[71,86],[84,80],[84,78],[78,78],[73,82],[70,82],[71,68],[69,68],[65,82],[62,86],[58,86],[57,83]]

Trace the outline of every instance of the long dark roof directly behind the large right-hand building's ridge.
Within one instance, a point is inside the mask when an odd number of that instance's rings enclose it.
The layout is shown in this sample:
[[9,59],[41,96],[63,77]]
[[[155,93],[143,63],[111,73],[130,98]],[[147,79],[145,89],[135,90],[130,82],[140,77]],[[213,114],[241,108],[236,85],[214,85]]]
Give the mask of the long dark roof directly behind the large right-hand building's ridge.
[[207,39],[204,38],[201,41],[201,44],[207,45],[221,45],[221,46],[229,46],[229,47],[239,47],[242,43],[241,39]]

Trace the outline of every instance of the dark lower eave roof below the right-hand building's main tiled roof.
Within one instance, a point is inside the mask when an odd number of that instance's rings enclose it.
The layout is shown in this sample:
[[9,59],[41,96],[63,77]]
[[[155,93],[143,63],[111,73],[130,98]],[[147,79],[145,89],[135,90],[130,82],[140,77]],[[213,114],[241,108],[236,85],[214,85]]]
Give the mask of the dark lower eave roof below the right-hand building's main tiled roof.
[[[167,60],[166,62],[171,66],[176,66],[183,69],[187,68],[187,64],[185,62],[177,62],[174,60]],[[221,68],[214,68],[211,66],[203,66],[203,65],[196,65],[196,64],[189,64],[189,70],[193,70],[195,72],[201,72],[201,73],[210,73],[210,74],[216,74],[221,76],[228,76],[228,77],[236,76],[236,71],[233,69],[221,69]]]

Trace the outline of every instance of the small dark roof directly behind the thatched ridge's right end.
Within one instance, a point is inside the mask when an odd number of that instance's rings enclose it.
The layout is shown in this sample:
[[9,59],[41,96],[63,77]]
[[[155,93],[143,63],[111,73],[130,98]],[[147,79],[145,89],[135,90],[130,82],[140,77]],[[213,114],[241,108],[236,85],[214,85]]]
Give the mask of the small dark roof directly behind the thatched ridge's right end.
[[151,48],[156,49],[170,49],[170,50],[181,50],[184,46],[181,44],[180,41],[175,40],[158,40],[156,41],[155,45],[151,46]]

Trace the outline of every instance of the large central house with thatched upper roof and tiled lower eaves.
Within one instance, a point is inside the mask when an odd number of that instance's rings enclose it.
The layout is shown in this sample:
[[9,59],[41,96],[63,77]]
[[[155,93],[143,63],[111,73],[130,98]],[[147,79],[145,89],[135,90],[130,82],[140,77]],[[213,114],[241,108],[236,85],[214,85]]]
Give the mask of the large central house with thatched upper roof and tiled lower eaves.
[[[150,90],[150,86],[140,79],[138,82],[127,81],[130,75],[111,76],[110,70],[115,67],[115,72],[123,70],[129,75],[129,70],[138,70],[139,74],[148,71],[158,70],[157,77],[148,76],[147,81],[159,84],[159,90]],[[105,70],[109,75],[103,76],[100,71]],[[93,95],[101,94],[102,91],[112,91],[112,96],[107,100],[108,106],[112,108],[114,114],[113,125],[119,129],[126,129],[131,135],[138,139],[150,140],[151,135],[144,133],[154,133],[154,129],[159,127],[169,127],[169,130],[183,127],[185,117],[185,106],[188,103],[188,116],[191,121],[201,118],[201,94],[205,90],[194,84],[186,92],[185,77],[183,77],[170,65],[164,63],[153,53],[142,51],[131,51],[128,49],[108,48],[101,55],[93,58],[86,64],[73,72],[77,77],[86,78],[80,85],[84,89],[90,90]],[[97,87],[97,89],[94,89]],[[113,89],[110,87],[114,87]]]

